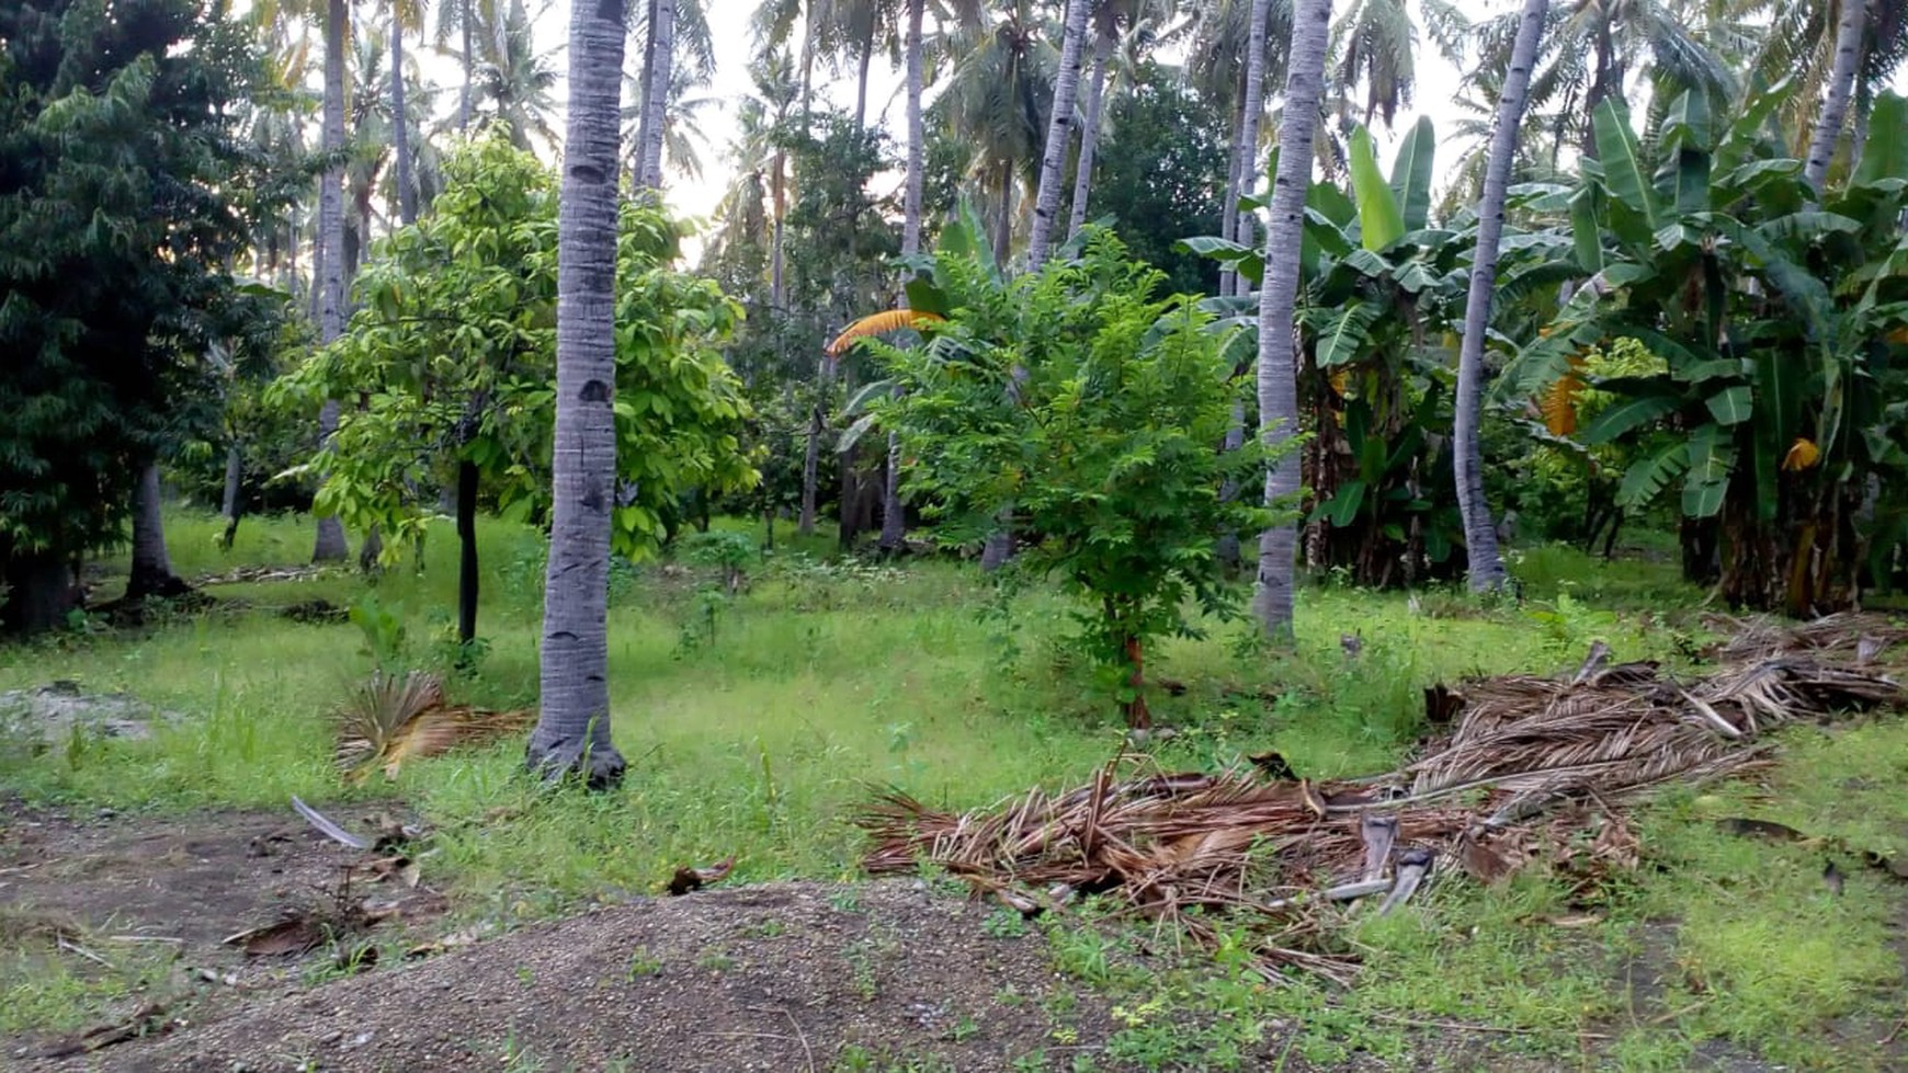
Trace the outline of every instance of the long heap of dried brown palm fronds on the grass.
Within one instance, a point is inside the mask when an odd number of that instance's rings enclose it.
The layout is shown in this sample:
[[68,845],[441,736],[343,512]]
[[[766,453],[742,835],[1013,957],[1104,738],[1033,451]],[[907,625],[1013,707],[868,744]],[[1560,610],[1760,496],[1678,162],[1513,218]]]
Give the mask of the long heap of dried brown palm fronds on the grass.
[[1259,934],[1269,974],[1286,964],[1343,980],[1351,961],[1332,924],[1364,911],[1360,898],[1383,896],[1376,911],[1389,913],[1452,863],[1483,881],[1536,856],[1574,875],[1633,863],[1622,802],[1752,764],[1753,739],[1778,724],[1904,699],[1874,665],[1832,665],[1841,648],[1828,631],[1794,633],[1815,640],[1765,640],[1689,682],[1654,663],[1607,667],[1599,642],[1565,678],[1427,690],[1448,734],[1368,779],[1254,768],[1122,779],[1116,759],[1070,793],[1036,789],[964,816],[889,791],[859,818],[874,837],[862,863],[876,875],[931,863],[1023,913],[1105,894],[1206,938],[1210,913],[1233,911]]

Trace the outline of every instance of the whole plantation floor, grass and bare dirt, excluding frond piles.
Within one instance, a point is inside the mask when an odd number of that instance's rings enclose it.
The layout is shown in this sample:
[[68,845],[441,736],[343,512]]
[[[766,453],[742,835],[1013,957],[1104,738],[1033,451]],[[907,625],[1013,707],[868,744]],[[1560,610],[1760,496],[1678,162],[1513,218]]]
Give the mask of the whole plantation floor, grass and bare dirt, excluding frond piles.
[[[1091,907],[1028,922],[935,881],[857,882],[847,816],[870,785],[969,808],[1078,785],[1120,749],[1053,593],[1002,610],[964,566],[828,562],[817,545],[784,547],[736,598],[693,566],[618,570],[622,791],[548,791],[513,741],[353,785],[324,713],[376,663],[443,669],[466,703],[534,699],[536,536],[483,526],[487,644],[452,673],[448,539],[368,585],[246,572],[301,562],[303,520],[246,520],[231,553],[218,526],[170,518],[176,568],[221,576],[212,608],[0,648],[0,694],[73,682],[160,713],[143,738],[34,741],[0,719],[8,1069],[1908,1067],[1908,884],[1860,858],[1908,861],[1908,719],[1790,730],[1753,778],[1671,787],[1633,816],[1633,873],[1591,890],[1542,867],[1446,879],[1347,928],[1357,987],[1275,989]],[[1152,707],[1179,734],[1152,759],[1210,770],[1276,749],[1311,778],[1389,770],[1423,686],[1555,673],[1593,638],[1685,665],[1708,640],[1700,595],[1656,558],[1528,549],[1513,572],[1521,598],[1498,606],[1307,589],[1292,656],[1236,625],[1164,644],[1149,663],[1173,688]],[[118,570],[93,581],[109,598]],[[370,629],[309,614],[322,606]],[[425,823],[418,886],[361,879],[340,900],[340,867],[370,854],[317,837],[292,795],[351,827]],[[1734,818],[1811,839],[1731,835]],[[721,884],[656,898],[674,869],[731,854]],[[399,913],[347,919],[301,957],[219,941],[342,903]],[[40,1058],[101,1025],[174,1027],[92,1063]]]

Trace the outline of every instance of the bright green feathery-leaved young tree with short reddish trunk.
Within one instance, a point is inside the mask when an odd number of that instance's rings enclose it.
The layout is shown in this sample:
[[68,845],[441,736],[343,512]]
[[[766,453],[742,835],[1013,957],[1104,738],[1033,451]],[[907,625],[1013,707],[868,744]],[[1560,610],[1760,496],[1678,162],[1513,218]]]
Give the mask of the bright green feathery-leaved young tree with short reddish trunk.
[[1015,505],[1038,534],[1017,574],[1059,576],[1086,604],[1084,638],[1128,720],[1147,726],[1147,642],[1198,635],[1189,606],[1236,610],[1212,534],[1273,522],[1219,496],[1265,465],[1257,444],[1213,452],[1246,377],[1212,316],[1164,297],[1164,276],[1112,234],[1088,229],[1078,261],[1006,280],[977,229],[950,225],[933,280],[910,286],[904,322],[927,341],[874,343],[901,391],[872,417],[901,435],[941,541],[971,543]]

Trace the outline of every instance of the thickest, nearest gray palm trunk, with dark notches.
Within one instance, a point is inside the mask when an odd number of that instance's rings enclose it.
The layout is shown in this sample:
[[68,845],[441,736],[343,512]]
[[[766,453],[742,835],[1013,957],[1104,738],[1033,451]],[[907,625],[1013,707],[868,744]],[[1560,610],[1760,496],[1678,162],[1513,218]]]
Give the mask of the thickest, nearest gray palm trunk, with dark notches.
[[570,6],[569,118],[557,215],[557,429],[529,766],[591,787],[622,779],[609,734],[609,537],[616,492],[616,112],[622,0]]

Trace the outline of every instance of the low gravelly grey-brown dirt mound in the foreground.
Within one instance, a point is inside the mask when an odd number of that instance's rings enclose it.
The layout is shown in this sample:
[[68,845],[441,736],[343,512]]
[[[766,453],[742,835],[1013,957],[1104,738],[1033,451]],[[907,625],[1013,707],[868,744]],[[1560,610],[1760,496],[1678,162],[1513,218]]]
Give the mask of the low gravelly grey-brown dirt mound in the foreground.
[[922,882],[643,900],[29,1069],[1011,1069],[1105,1039],[1046,943],[985,915]]

